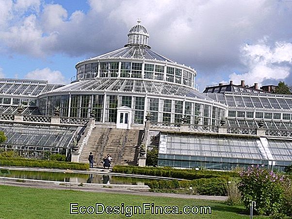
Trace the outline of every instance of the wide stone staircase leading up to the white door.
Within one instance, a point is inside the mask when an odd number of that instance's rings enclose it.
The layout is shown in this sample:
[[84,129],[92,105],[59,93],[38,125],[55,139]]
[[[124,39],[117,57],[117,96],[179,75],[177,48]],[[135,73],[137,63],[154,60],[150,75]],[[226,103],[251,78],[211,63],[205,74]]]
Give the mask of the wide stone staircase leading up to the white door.
[[95,156],[95,167],[102,167],[103,157],[111,154],[113,165],[136,165],[138,157],[139,141],[142,136],[141,130],[127,130],[105,128],[102,125],[96,125],[84,147],[80,161],[88,163],[89,152]]

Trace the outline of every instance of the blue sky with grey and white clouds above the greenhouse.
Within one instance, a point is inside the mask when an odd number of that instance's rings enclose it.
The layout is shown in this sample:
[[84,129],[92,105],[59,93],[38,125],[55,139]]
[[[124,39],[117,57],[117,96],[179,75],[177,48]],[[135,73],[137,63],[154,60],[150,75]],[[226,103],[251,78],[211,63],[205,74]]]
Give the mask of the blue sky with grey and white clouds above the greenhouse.
[[292,0],[0,0],[0,77],[69,83],[77,62],[123,47],[137,18],[201,91],[292,85]]

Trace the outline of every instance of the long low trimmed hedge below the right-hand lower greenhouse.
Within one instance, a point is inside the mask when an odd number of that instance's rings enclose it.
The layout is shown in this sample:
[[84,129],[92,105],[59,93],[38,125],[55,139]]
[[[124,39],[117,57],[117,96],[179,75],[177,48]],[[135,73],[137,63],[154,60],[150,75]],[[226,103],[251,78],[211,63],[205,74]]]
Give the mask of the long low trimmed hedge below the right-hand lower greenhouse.
[[136,166],[114,166],[113,172],[128,174],[143,174],[151,176],[171,177],[178,179],[194,180],[201,178],[217,177],[239,177],[239,174],[233,171],[213,171],[213,170],[194,170],[194,169],[175,169],[175,168],[153,168]]

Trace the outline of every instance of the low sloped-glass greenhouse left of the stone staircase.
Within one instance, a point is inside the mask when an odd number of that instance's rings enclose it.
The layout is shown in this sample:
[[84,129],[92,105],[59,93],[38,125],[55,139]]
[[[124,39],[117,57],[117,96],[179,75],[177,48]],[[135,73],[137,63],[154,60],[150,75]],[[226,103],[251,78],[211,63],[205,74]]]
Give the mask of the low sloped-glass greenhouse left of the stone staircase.
[[51,126],[28,123],[1,123],[7,141],[4,150],[15,150],[25,157],[43,158],[44,152],[68,155],[70,143],[77,135],[76,126]]

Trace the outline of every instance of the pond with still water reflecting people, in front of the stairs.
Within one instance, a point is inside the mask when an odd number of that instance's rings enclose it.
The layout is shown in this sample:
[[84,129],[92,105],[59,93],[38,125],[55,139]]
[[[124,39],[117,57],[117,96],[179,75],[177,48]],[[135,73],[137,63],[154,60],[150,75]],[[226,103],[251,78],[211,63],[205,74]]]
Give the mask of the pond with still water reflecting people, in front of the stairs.
[[[46,172],[46,171],[27,171],[27,170],[9,170],[10,174],[6,177],[61,181],[71,183],[98,183],[98,184],[119,184],[119,185],[137,185],[152,181],[151,179],[112,176],[108,174],[83,174],[83,173],[65,173],[65,172]],[[1,176],[4,176],[3,174]]]

